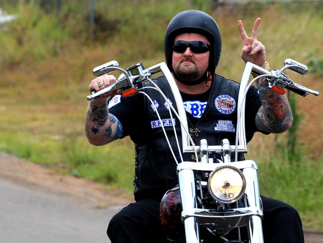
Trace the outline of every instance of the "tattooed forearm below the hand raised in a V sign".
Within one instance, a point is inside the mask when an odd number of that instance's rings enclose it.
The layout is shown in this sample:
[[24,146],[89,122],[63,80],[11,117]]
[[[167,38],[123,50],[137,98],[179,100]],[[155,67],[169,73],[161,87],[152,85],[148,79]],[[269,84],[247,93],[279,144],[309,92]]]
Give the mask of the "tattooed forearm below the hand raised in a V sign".
[[287,97],[269,89],[266,80],[261,84],[257,83],[257,87],[262,103],[256,115],[257,129],[273,133],[286,131],[293,123],[293,115]]

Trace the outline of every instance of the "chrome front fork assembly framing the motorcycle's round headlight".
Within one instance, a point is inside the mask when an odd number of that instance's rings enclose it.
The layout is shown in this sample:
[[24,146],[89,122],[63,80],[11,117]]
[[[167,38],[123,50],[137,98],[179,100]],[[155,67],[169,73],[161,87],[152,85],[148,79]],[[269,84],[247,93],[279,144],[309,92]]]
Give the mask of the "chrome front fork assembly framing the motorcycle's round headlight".
[[[227,144],[224,143],[227,147]],[[204,148],[205,149],[205,148]],[[229,161],[228,158],[225,159]],[[245,208],[217,212],[214,209],[198,208],[196,195],[195,171],[211,172],[216,168],[228,165],[239,168],[246,180],[244,193]],[[244,160],[226,163],[182,162],[177,166],[178,183],[182,203],[181,219],[185,227],[186,243],[201,243],[200,227],[217,228],[228,222],[228,228],[246,226],[249,243],[263,243],[258,184],[258,166],[255,161]]]

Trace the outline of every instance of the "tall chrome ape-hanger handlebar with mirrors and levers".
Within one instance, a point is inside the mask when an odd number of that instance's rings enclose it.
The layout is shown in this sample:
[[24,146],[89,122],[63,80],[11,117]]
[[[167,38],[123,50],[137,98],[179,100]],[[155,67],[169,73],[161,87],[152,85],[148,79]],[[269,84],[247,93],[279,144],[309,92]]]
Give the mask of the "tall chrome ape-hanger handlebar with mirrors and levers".
[[[291,59],[285,60],[285,66],[277,71],[268,71],[265,70],[253,63],[247,62],[243,73],[242,73],[242,79],[241,79],[241,86],[239,91],[239,99],[238,99],[238,110],[241,110],[240,117],[238,117],[237,122],[237,136],[238,136],[238,142],[236,142],[236,145],[231,145],[230,150],[231,151],[238,151],[238,152],[246,152],[246,139],[245,139],[245,127],[244,127],[244,96],[246,92],[246,88],[248,86],[248,81],[250,79],[251,72],[256,72],[262,77],[266,77],[270,88],[273,89],[273,87],[280,88],[281,91],[284,91],[283,88],[290,89],[293,92],[296,92],[298,94],[301,94],[303,96],[308,94],[313,94],[318,96],[320,93],[314,90],[310,90],[304,86],[301,86],[292,80],[288,79],[287,76],[283,73],[284,70],[291,69],[295,72],[298,72],[300,74],[305,74],[307,72],[307,67],[301,63],[298,63]],[[186,131],[188,131],[188,124],[186,120],[186,113],[182,102],[182,98],[180,95],[180,92],[178,90],[178,87],[176,85],[175,80],[173,79],[172,74],[170,73],[169,69],[167,68],[167,65],[165,63],[156,64],[152,67],[149,67],[147,69],[144,69],[142,63],[138,63],[134,66],[131,66],[127,68],[126,70],[123,70],[119,68],[119,64],[116,61],[111,61],[108,63],[105,63],[101,66],[98,66],[93,69],[93,74],[95,76],[100,76],[106,73],[109,73],[111,71],[118,70],[121,71],[122,74],[117,79],[116,83],[106,87],[96,93],[92,93],[91,95],[87,96],[87,100],[94,99],[100,95],[106,94],[108,92],[114,91],[114,90],[121,90],[121,94],[123,97],[131,96],[136,93],[139,93],[142,89],[142,83],[149,81],[151,76],[161,72],[162,75],[165,76],[172,93],[174,95],[175,103],[177,104],[178,114],[180,117],[180,121],[182,123],[181,125],[181,132],[182,132],[182,152],[194,152],[199,151],[199,146],[192,144],[189,139],[189,135],[187,135]],[[260,76],[259,76],[260,78]],[[273,89],[275,90],[275,89]],[[239,114],[238,114],[239,116]],[[185,135],[186,134],[186,135]],[[238,144],[238,147],[237,147]],[[208,146],[209,151],[212,152],[221,152],[221,146],[219,145],[210,145]]]

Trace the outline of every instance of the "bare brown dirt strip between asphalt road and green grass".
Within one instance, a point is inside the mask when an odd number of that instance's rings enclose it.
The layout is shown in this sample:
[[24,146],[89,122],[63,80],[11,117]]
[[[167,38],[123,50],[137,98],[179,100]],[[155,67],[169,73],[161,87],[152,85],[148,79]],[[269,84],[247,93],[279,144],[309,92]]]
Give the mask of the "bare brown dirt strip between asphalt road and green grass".
[[100,183],[72,175],[62,175],[5,152],[0,152],[0,176],[53,193],[79,197],[96,206],[127,205],[133,201],[130,192],[108,189],[106,185]]

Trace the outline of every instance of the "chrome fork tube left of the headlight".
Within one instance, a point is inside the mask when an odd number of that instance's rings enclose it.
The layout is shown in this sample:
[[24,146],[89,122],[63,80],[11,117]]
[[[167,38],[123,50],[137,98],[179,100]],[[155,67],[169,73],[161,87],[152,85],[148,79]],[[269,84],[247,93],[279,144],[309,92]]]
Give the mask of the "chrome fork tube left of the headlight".
[[185,227],[186,243],[200,243],[200,232],[197,219],[187,217],[189,209],[196,208],[196,190],[194,173],[190,169],[178,172],[179,192],[182,202],[182,221]]

